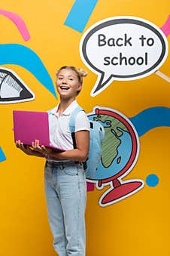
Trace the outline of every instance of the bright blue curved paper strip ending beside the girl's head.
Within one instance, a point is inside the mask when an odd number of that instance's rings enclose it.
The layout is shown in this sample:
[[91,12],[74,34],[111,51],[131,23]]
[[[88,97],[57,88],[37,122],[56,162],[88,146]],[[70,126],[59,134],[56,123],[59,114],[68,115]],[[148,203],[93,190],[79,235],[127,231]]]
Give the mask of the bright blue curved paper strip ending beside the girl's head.
[[0,45],[0,65],[3,64],[23,66],[56,97],[53,81],[47,69],[38,55],[30,48],[17,44]]

